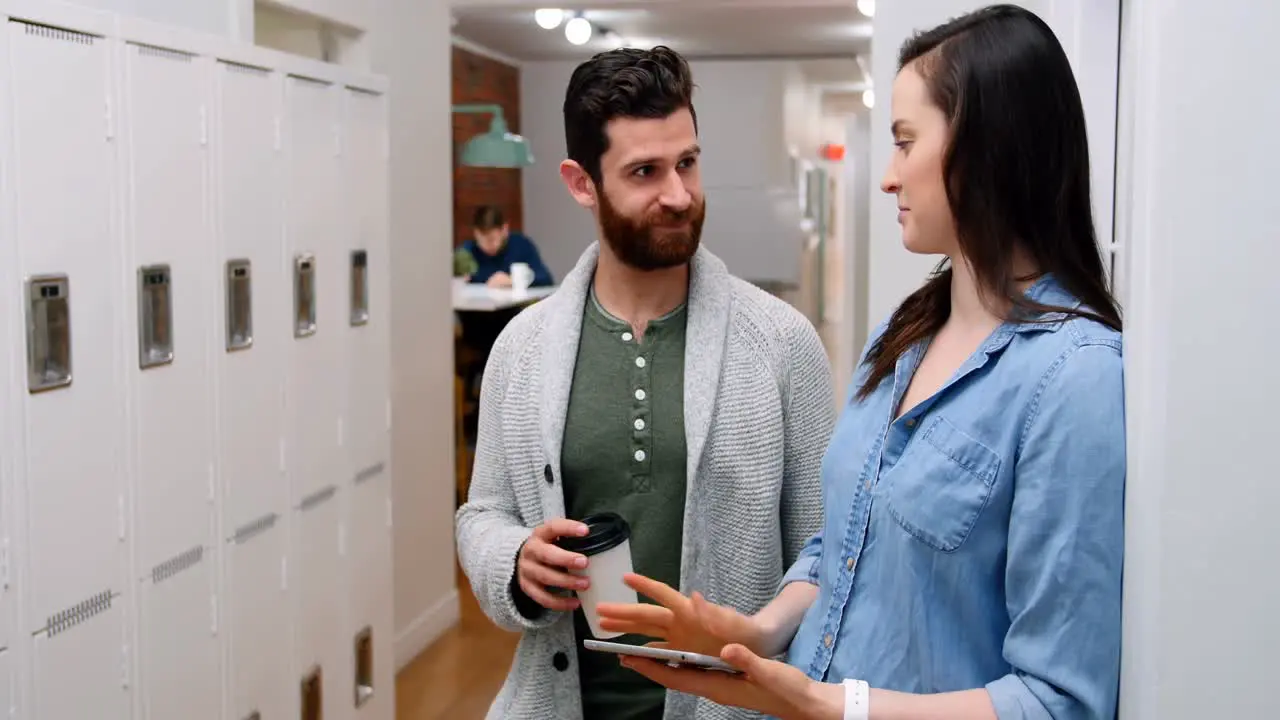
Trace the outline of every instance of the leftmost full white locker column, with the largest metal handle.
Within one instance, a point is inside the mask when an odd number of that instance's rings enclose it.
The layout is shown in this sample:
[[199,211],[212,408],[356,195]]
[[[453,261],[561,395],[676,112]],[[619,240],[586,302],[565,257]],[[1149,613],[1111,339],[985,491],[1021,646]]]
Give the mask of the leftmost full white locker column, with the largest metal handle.
[[[29,717],[131,715],[120,593],[125,313],[110,53],[101,37],[9,22],[12,200],[28,325],[23,404]],[[68,197],[74,197],[72,206]]]

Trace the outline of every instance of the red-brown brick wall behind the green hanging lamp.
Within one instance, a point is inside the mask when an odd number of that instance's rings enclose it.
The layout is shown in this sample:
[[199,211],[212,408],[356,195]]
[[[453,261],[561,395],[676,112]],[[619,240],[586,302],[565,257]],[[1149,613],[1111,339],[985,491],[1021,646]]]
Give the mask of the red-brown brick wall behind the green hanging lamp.
[[[520,132],[520,68],[453,47],[453,102],[502,106],[511,132]],[[471,217],[480,205],[497,205],[512,229],[524,227],[520,170],[465,168],[458,164],[462,143],[486,132],[492,117],[453,113],[453,242],[471,237]]]

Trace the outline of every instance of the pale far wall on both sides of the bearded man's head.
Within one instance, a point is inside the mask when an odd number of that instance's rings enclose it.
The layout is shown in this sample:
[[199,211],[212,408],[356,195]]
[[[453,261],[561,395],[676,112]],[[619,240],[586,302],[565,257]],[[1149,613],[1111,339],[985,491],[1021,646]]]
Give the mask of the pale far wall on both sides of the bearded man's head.
[[[703,242],[745,278],[795,281],[801,237],[788,147],[817,146],[815,95],[788,61],[690,65],[708,199]],[[557,169],[564,158],[564,88],[575,67],[524,63],[520,73],[521,135],[538,158],[524,172],[524,229],[557,278],[596,237],[591,215],[568,197]]]

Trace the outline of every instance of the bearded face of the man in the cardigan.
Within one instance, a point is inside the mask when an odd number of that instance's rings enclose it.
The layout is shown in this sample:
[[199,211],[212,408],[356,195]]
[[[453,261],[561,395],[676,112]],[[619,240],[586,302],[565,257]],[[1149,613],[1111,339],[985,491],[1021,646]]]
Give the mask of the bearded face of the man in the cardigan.
[[692,114],[682,109],[662,119],[617,118],[605,132],[609,150],[600,158],[595,188],[604,242],[637,270],[687,263],[707,214]]

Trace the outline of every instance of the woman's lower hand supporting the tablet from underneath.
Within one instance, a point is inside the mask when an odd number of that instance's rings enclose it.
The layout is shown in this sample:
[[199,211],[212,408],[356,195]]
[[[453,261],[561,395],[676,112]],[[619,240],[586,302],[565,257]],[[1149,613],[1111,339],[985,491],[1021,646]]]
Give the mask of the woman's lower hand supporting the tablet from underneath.
[[845,715],[841,685],[810,680],[799,669],[764,660],[740,644],[724,647],[719,656],[742,674],[671,667],[631,656],[622,657],[622,665],[666,688],[781,720],[841,720]]

